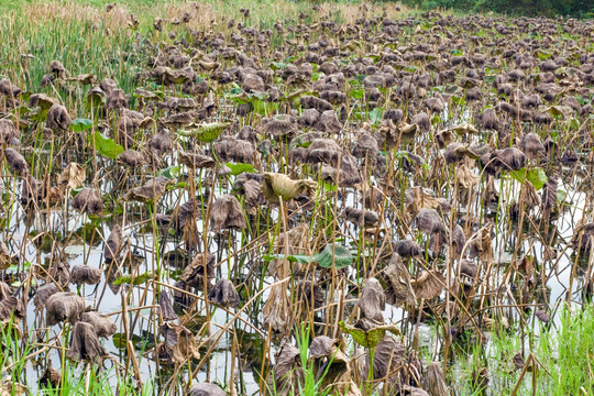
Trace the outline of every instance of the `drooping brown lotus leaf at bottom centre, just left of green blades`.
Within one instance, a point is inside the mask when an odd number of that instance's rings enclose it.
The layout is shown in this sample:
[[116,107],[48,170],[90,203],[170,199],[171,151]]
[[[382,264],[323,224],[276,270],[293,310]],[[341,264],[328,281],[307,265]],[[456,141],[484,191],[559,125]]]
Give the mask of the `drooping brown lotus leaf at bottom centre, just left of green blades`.
[[285,343],[276,352],[275,359],[273,381],[278,395],[298,394],[305,377],[299,349],[290,343]]

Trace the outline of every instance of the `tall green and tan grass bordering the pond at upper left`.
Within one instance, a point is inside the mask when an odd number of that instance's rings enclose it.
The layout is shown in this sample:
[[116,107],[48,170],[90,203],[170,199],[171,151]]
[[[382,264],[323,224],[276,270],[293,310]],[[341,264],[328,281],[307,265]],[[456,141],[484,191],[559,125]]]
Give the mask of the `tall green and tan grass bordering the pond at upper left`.
[[[309,2],[285,0],[222,0],[201,1],[196,8],[189,1],[124,0],[118,1],[110,12],[108,0],[69,1],[2,1],[0,2],[0,76],[9,77],[28,91],[55,96],[51,87],[40,89],[43,75],[48,74],[50,63],[62,62],[73,76],[91,73],[99,80],[110,77],[120,88],[130,94],[136,75],[146,69],[147,51],[143,46],[164,42],[169,32],[179,37],[188,36],[186,26],[164,23],[163,32],[153,29],[155,18],[182,19],[189,12],[189,26],[195,30],[228,31],[233,19],[258,30],[274,32],[275,22],[299,21],[299,13],[308,14],[304,20],[314,23],[323,15],[339,23],[352,22],[361,16],[358,4],[327,2],[318,13],[311,12]],[[244,18],[240,9],[250,9]],[[375,11],[380,12],[378,7]],[[396,12],[396,11],[393,11]],[[134,15],[139,24],[131,28],[128,22]],[[400,13],[405,16],[405,13]],[[216,25],[212,24],[216,22]],[[290,38],[290,36],[288,37]],[[277,40],[276,42],[282,42]],[[32,55],[25,58],[23,55]],[[88,88],[78,94],[84,95]],[[76,107],[73,92],[58,92],[68,108]],[[72,105],[72,106],[68,106]]]

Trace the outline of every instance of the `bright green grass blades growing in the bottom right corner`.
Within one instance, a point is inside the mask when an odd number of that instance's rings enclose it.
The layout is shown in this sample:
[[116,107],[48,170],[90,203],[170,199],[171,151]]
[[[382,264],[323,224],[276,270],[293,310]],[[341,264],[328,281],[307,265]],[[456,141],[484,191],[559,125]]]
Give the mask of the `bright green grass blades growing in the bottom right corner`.
[[[524,361],[532,354],[535,365],[528,364],[520,381],[521,369],[516,369],[514,355],[522,352],[519,331],[501,331],[493,334],[488,344],[469,344],[464,359],[454,366],[459,381],[459,395],[479,395],[472,373],[482,367],[488,371],[488,389],[493,395],[592,395],[594,393],[594,306],[583,310],[564,309],[559,327],[547,329],[535,323],[537,331],[526,333]],[[461,356],[459,356],[461,358]],[[532,370],[536,366],[536,371]],[[455,383],[455,382],[452,382]],[[519,383],[519,385],[518,385]],[[534,386],[536,384],[536,387]]]

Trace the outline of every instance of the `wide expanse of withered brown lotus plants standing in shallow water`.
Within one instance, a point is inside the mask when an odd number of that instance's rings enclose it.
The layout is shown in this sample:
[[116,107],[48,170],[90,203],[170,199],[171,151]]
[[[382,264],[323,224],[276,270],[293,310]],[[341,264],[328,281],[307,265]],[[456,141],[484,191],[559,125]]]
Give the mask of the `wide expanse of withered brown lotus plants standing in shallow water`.
[[0,320],[38,386],[243,394],[222,349],[261,394],[448,395],[453,344],[594,290],[592,22],[200,7],[123,19],[133,86],[0,69]]

